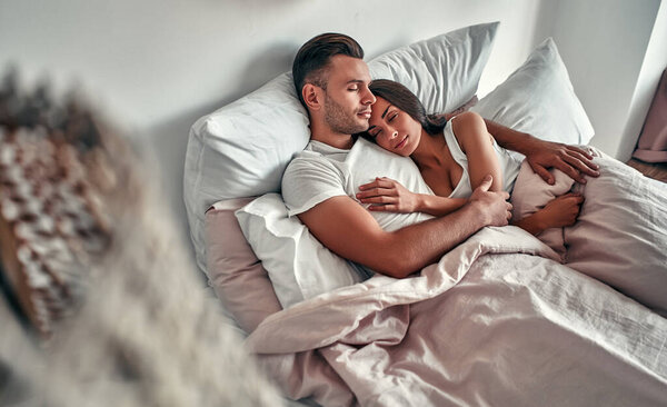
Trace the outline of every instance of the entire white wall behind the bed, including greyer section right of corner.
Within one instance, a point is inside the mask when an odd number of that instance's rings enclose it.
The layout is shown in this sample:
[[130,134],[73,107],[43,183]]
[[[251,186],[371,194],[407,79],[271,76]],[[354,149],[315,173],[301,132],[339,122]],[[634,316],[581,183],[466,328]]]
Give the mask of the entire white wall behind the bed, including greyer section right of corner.
[[57,90],[83,83],[98,106],[155,151],[169,205],[186,228],[181,183],[189,127],[289,70],[298,47],[317,33],[348,33],[371,58],[500,20],[480,95],[554,36],[598,130],[594,142],[614,155],[659,2],[1,0],[0,72],[13,61],[28,83],[42,76]]

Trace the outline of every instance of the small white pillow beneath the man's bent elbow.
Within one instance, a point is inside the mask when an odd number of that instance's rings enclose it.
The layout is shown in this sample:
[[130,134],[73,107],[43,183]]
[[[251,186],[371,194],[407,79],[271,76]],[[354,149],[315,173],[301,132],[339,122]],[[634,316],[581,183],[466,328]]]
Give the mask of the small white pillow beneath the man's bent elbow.
[[322,246],[279,193],[267,193],[236,211],[243,236],[269,274],[283,308],[362,280],[355,267]]

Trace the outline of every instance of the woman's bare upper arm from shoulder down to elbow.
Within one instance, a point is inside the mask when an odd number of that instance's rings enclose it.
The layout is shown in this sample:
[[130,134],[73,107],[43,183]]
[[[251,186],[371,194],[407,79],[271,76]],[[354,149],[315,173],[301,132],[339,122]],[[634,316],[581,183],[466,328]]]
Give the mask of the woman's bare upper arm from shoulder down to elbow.
[[451,119],[451,129],[468,158],[470,187],[477,188],[484,177],[494,177],[491,190],[502,190],[502,170],[494,149],[494,138],[478,113],[467,111]]

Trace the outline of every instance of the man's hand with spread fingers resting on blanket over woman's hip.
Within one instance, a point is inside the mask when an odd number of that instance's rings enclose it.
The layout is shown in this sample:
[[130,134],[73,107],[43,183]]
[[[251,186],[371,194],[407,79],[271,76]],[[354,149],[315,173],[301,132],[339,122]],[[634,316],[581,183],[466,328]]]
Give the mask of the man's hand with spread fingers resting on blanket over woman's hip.
[[593,162],[593,156],[587,151],[560,142],[544,141],[537,138],[527,142],[521,151],[528,163],[547,183],[555,182],[549,168],[557,168],[579,183],[586,183],[585,175],[598,177],[599,166]]

